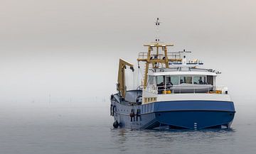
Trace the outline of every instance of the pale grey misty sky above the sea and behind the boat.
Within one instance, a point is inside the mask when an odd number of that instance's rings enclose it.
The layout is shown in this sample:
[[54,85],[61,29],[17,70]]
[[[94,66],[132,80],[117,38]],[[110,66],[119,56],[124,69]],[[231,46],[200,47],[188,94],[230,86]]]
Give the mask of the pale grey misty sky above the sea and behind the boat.
[[[94,100],[115,92],[119,57],[137,65],[160,39],[223,72],[233,95],[255,91],[255,1],[2,0],[0,102]],[[131,81],[129,81],[131,84]],[[248,91],[250,89],[250,91]]]

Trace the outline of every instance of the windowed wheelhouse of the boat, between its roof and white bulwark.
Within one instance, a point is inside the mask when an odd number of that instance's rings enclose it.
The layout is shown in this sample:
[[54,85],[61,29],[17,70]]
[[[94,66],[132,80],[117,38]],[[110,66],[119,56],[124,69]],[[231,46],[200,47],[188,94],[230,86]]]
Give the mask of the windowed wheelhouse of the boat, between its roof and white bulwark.
[[149,72],[147,87],[158,94],[211,93],[215,89],[215,72]]

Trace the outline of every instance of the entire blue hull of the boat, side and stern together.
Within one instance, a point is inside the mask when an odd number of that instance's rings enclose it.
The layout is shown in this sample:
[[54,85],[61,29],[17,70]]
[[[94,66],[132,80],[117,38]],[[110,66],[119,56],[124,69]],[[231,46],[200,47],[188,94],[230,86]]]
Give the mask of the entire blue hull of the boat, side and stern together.
[[114,121],[125,128],[230,128],[235,116],[233,101],[160,101],[135,106],[112,101],[112,106]]

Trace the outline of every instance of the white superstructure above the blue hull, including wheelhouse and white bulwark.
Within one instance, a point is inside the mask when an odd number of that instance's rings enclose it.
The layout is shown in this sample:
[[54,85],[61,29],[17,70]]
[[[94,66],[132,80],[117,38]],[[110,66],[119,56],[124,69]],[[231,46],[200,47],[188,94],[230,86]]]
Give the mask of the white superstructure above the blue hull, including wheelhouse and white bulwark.
[[151,68],[146,87],[142,92],[142,103],[155,101],[230,101],[227,87],[216,84],[220,72],[198,68],[198,60],[181,63],[172,62],[169,68]]

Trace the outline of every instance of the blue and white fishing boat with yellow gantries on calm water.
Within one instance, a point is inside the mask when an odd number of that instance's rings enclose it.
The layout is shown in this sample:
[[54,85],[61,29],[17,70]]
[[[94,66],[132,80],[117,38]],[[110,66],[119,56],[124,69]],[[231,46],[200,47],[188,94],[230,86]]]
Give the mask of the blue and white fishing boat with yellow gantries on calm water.
[[134,71],[134,65],[119,60],[117,94],[110,98],[114,128],[230,128],[235,106],[228,88],[216,83],[219,71],[203,68],[201,60],[187,60],[190,51],[169,52],[174,45],[159,38],[144,46],[147,52],[137,58],[138,64],[145,63],[144,77],[137,89],[127,90],[125,84],[125,70]]

